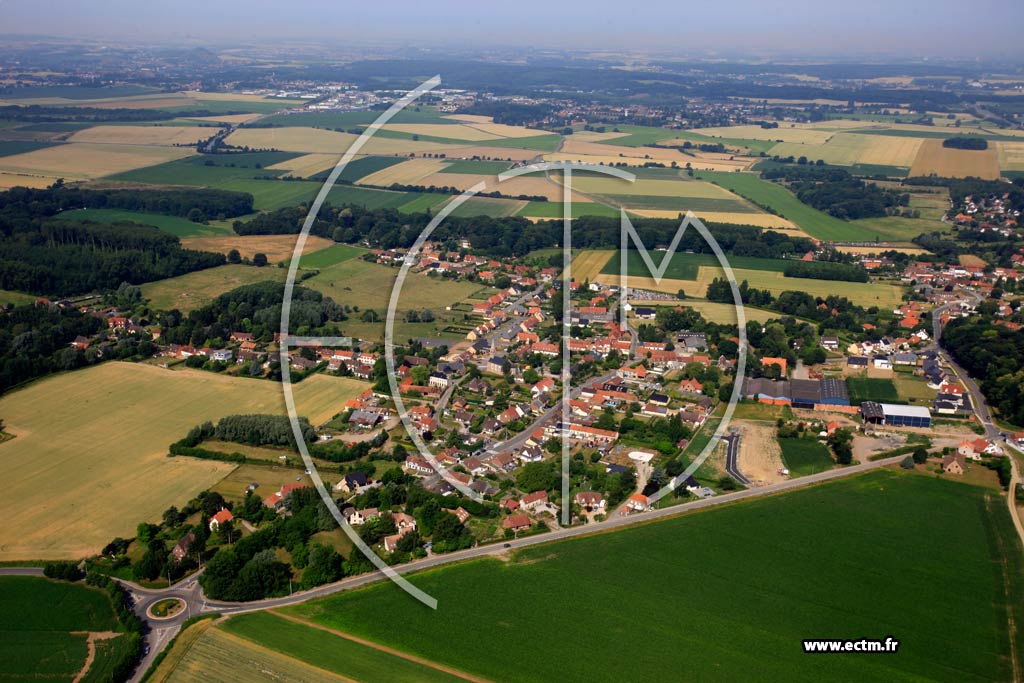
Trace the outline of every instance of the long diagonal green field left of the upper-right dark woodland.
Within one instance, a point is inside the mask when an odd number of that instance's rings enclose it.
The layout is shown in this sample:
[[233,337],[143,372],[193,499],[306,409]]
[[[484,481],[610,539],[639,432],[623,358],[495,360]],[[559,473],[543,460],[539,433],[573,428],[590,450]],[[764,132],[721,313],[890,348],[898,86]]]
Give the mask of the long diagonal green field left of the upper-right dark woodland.
[[701,171],[698,177],[710,180],[788,218],[811,237],[819,240],[867,242],[872,233],[810,207],[788,189],[774,182],[762,180],[754,173],[712,173]]

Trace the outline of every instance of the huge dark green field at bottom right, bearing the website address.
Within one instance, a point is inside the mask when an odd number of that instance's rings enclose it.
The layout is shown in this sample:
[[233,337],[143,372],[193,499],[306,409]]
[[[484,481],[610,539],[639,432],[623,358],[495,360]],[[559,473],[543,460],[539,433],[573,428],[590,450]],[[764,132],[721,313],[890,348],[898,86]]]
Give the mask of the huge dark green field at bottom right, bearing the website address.
[[883,470],[411,575],[436,611],[387,583],[287,611],[492,680],[962,683],[1014,678],[1021,566],[998,494]]

